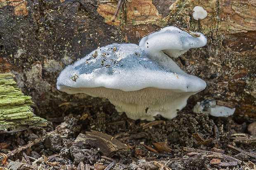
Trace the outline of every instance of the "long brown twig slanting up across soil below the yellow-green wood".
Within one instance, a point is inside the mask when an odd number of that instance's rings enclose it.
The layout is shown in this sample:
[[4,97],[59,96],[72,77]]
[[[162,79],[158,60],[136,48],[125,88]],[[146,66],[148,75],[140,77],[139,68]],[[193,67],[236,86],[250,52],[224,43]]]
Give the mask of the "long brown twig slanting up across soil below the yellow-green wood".
[[51,132],[47,133],[45,136],[42,136],[42,137],[34,140],[33,142],[29,142],[27,145],[24,145],[24,146],[21,146],[21,147],[18,147],[16,149],[12,150],[11,152],[9,152],[7,154],[7,156],[13,156],[13,155],[25,150],[25,149],[28,149],[29,147],[31,147],[31,146],[39,143],[39,142],[42,142],[44,139],[48,138],[49,136],[51,136],[53,134],[56,134],[56,133],[59,133],[60,131],[62,131],[62,128],[58,128],[54,131],[51,131]]

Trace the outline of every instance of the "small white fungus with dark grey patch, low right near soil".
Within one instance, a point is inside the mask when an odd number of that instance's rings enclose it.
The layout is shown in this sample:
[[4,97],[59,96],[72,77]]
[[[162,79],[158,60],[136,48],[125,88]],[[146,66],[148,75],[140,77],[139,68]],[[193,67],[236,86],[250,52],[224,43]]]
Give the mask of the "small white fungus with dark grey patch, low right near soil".
[[206,99],[201,103],[197,102],[193,108],[193,112],[197,114],[207,113],[215,117],[228,117],[234,114],[235,108],[218,106],[216,105],[215,99]]

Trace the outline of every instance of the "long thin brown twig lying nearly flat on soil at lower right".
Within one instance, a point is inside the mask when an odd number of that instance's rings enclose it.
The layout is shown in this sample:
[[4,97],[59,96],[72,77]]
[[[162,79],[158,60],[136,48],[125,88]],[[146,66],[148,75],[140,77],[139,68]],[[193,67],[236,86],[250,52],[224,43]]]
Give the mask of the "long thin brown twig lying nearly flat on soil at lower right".
[[236,161],[239,165],[242,163],[242,161],[240,161],[239,159],[235,159],[231,156],[228,156],[225,154],[220,154],[217,152],[204,151],[201,149],[192,149],[192,148],[188,148],[188,147],[184,147],[183,150],[186,152],[198,152],[199,154],[208,154],[206,156],[207,158],[220,158],[220,159],[225,159],[227,161],[234,161],[234,162]]

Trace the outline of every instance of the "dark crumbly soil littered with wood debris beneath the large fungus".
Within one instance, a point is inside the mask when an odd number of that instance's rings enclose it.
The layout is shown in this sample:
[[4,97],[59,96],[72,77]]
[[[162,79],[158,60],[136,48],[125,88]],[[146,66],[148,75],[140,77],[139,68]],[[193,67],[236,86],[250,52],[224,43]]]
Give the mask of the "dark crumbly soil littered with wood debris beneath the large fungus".
[[[0,142],[9,141],[11,145],[0,152],[7,154],[10,150],[26,145],[29,141],[34,141],[47,132],[55,130],[56,126],[61,124],[58,128],[62,130],[58,133],[26,149],[23,154],[19,152],[8,157],[8,162],[19,160],[29,165],[30,162],[24,160],[25,154],[34,158],[30,159],[32,163],[38,159],[37,163],[33,163],[32,168],[41,170],[81,170],[89,165],[91,169],[100,170],[108,165],[114,165],[113,163],[115,166],[112,169],[120,170],[244,169],[246,165],[253,169],[253,164],[249,161],[256,163],[253,157],[256,152],[255,136],[249,137],[247,134],[247,126],[251,123],[249,120],[236,122],[232,116],[225,118],[211,117],[207,114],[197,115],[192,113],[192,106],[188,105],[174,119],[168,120],[156,116],[154,125],[149,126],[148,123],[152,122],[128,119],[125,113],[119,115],[114,110],[114,106],[106,100],[90,98],[89,101],[91,103],[87,103],[88,105],[74,108],[69,116],[50,119],[49,126],[45,128],[2,135]],[[99,106],[99,101],[103,103],[102,106]],[[86,145],[74,142],[79,133],[85,134],[91,130],[113,136],[126,144],[129,147],[128,151],[121,149],[106,154],[102,149],[104,145],[102,141],[87,142]],[[160,142],[159,145],[157,145],[158,142]],[[158,153],[147,149],[145,145],[156,149]],[[252,156],[234,152],[227,147],[228,145],[251,152]],[[224,157],[207,156],[209,154],[206,153],[188,154],[189,152],[184,151],[184,147],[205,151],[214,149],[214,152],[222,152],[225,156],[232,156],[242,163],[239,165],[236,161],[228,161]],[[43,158],[40,159],[41,156]],[[229,164],[223,166],[214,164],[213,161]],[[3,164],[1,166],[3,167]]]

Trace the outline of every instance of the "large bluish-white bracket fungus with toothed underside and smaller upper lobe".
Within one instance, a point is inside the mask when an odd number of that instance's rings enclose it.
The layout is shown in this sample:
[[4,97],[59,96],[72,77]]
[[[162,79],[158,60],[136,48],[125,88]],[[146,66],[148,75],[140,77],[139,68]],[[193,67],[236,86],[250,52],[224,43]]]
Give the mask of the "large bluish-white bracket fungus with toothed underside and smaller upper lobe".
[[186,74],[170,57],[206,45],[203,34],[169,26],[136,44],[111,44],[67,66],[57,79],[57,89],[107,98],[131,119],[154,120],[159,114],[172,119],[192,94],[206,83]]

